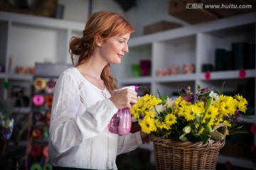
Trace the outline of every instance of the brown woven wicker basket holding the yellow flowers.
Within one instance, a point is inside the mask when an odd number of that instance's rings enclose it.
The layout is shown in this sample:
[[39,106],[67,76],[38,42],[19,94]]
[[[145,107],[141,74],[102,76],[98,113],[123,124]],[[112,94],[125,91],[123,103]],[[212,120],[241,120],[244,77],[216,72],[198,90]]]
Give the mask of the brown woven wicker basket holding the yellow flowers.
[[[226,135],[227,126],[221,123],[215,126],[223,128],[223,135]],[[166,169],[215,169],[220,148],[225,145],[225,139],[215,142],[181,142],[171,141],[163,137],[150,135],[150,140],[154,143],[154,154],[157,170]]]

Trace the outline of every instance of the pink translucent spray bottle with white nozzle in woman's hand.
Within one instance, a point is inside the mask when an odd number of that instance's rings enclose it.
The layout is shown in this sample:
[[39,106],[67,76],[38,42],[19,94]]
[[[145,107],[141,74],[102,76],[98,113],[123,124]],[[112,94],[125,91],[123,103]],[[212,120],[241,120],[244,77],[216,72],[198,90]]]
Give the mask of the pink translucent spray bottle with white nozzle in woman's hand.
[[[131,89],[136,91],[139,86],[125,86],[122,89]],[[132,115],[129,108],[122,108],[117,111],[108,125],[110,132],[118,135],[127,135],[132,128]]]

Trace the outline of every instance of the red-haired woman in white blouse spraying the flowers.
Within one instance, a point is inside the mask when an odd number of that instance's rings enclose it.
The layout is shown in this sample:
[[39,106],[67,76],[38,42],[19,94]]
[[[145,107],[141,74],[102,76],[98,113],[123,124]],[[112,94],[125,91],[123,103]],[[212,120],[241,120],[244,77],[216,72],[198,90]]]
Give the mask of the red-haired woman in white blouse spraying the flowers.
[[55,86],[50,118],[49,157],[54,169],[117,169],[117,154],[148,140],[143,132],[119,136],[108,130],[114,113],[137,103],[137,92],[114,91],[110,64],[128,52],[134,32],[117,13],[100,11],[87,21],[81,38],[70,40],[75,67],[65,70]]

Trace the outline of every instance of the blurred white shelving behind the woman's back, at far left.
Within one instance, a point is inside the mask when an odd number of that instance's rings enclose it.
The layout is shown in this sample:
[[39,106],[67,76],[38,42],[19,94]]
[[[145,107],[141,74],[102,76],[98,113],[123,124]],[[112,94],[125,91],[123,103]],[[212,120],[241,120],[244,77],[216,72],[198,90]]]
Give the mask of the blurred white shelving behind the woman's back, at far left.
[[[68,42],[82,35],[85,23],[0,11],[0,83],[24,81],[32,74],[17,74],[17,66],[34,67],[36,62],[71,64]],[[0,100],[9,100],[9,89],[1,88]]]

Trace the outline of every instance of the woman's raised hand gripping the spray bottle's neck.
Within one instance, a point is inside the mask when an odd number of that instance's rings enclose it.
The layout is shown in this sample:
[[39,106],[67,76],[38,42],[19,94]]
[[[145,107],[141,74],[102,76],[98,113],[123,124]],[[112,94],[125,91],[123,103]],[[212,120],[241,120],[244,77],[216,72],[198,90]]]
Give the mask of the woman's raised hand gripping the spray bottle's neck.
[[132,108],[131,104],[137,103],[137,92],[131,89],[122,89],[114,91],[110,101],[118,108]]

